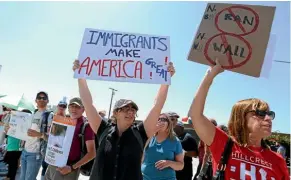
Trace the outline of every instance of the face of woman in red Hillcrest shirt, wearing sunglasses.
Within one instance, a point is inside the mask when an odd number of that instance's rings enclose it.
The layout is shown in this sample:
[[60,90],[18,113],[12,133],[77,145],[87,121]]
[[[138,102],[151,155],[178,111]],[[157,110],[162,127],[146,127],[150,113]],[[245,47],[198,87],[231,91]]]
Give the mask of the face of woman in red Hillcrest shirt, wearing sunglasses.
[[273,111],[250,111],[246,115],[247,127],[250,133],[258,138],[266,138],[272,133]]

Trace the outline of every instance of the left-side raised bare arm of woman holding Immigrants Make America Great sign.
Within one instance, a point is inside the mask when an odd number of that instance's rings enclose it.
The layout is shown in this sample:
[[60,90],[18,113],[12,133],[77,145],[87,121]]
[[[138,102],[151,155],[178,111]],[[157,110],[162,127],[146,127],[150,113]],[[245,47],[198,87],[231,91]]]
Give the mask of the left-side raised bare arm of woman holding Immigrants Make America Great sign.
[[[79,61],[76,60],[74,62],[73,70],[80,68]],[[96,108],[93,105],[93,100],[91,96],[91,92],[88,88],[87,82],[85,79],[78,79],[78,85],[79,85],[79,93],[80,98],[82,100],[82,103],[85,108],[85,112],[88,118],[88,122],[92,128],[92,130],[97,134],[97,131],[99,129],[100,123],[102,121],[101,116],[98,114]]]

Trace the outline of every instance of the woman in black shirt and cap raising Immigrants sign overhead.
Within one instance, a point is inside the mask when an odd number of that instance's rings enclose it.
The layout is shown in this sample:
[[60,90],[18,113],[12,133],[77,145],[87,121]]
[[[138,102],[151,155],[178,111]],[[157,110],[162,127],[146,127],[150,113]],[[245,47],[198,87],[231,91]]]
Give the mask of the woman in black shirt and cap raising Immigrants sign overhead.
[[[74,62],[73,70],[80,68]],[[175,69],[169,63],[168,72],[174,75]],[[92,96],[85,79],[78,79],[80,97],[84,103],[88,122],[98,137],[99,148],[90,176],[91,180],[140,180],[141,158],[144,144],[156,131],[157,121],[165,104],[169,85],[162,84],[154,106],[147,118],[135,124],[138,106],[129,99],[118,100],[113,108],[115,123],[108,123],[100,117],[93,105]]]

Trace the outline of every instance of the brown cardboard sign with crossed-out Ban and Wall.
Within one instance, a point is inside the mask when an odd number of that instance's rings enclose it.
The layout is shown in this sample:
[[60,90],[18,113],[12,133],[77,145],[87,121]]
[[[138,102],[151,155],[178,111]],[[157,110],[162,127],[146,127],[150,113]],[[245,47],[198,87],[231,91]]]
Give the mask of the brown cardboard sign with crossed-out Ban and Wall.
[[259,77],[275,7],[209,3],[188,60]]

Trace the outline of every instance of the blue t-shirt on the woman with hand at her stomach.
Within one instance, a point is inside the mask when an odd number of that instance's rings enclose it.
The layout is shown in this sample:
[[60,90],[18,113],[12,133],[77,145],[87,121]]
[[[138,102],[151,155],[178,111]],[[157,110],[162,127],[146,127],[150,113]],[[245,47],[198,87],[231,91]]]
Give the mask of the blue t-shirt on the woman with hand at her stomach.
[[175,170],[168,167],[158,170],[155,163],[160,160],[175,161],[175,156],[181,154],[182,145],[177,137],[170,138],[158,143],[153,137],[145,149],[144,161],[141,166],[144,180],[176,180]]

